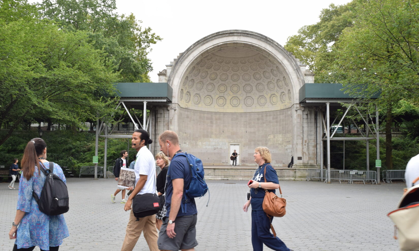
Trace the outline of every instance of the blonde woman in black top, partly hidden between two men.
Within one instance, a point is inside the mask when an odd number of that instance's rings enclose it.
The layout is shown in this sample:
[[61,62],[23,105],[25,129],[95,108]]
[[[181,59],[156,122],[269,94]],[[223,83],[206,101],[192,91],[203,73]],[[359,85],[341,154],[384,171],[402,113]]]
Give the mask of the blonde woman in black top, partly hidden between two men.
[[156,164],[160,167],[160,173],[157,176],[156,187],[157,187],[157,195],[160,198],[160,202],[163,202],[163,207],[157,212],[156,214],[156,226],[157,229],[160,230],[161,224],[163,224],[163,217],[166,216],[166,206],[164,205],[164,196],[165,196],[165,186],[166,186],[166,176],[167,170],[169,168],[169,159],[163,152],[159,152],[155,156]]

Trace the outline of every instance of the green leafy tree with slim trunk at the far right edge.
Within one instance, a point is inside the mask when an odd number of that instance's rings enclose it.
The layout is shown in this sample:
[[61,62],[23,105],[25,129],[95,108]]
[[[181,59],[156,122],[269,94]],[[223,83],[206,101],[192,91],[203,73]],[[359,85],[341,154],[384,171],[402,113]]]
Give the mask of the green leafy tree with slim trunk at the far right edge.
[[399,100],[419,97],[419,3],[417,0],[357,0],[353,26],[336,46],[334,80],[352,95],[381,92],[386,110],[386,166],[392,167],[391,123]]

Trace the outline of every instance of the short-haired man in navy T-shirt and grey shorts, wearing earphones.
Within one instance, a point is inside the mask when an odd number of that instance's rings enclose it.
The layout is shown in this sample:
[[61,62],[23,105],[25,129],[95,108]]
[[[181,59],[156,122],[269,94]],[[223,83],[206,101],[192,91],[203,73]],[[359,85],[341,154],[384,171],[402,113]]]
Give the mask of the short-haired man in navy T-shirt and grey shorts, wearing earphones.
[[194,198],[186,195],[191,182],[191,171],[185,156],[177,155],[182,150],[178,135],[164,131],[159,136],[160,151],[172,158],[166,179],[166,217],[158,236],[160,250],[193,251],[196,239],[197,206]]

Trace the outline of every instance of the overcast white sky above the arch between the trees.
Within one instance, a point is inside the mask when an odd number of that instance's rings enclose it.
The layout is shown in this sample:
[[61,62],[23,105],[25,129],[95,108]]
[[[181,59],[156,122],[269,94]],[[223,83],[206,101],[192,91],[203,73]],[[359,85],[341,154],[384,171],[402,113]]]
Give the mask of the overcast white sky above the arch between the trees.
[[[38,2],[29,0],[29,2]],[[41,0],[39,0],[41,2]],[[118,13],[134,13],[163,41],[152,46],[152,82],[179,53],[199,39],[224,30],[248,30],[272,38],[282,46],[299,28],[316,23],[323,8],[348,0],[116,0]]]

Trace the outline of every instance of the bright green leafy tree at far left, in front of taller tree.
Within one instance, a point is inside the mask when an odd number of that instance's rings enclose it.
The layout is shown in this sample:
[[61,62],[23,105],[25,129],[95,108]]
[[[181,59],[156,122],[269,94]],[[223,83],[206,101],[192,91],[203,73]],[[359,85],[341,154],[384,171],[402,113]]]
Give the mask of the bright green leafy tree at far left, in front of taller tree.
[[118,74],[88,34],[37,18],[26,1],[1,5],[0,15],[0,127],[8,128],[0,145],[35,116],[79,125],[107,112],[102,95],[114,92]]

